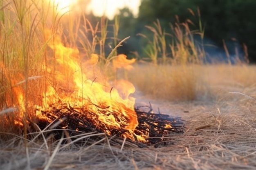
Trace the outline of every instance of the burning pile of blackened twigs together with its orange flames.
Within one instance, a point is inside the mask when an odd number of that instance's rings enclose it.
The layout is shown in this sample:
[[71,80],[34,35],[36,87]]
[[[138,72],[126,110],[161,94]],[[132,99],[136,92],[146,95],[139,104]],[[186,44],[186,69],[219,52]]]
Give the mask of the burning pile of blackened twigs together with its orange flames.
[[[115,88],[97,71],[98,55],[81,59],[77,48],[68,48],[57,34],[46,32],[53,60],[43,66],[47,84],[42,106],[36,106],[36,116],[48,123],[56,121],[58,127],[76,132],[105,132],[146,143],[161,141],[168,131],[180,125],[168,115],[135,110],[135,98],[130,97],[135,87],[126,80],[116,80]],[[131,68],[134,60],[125,55],[113,57],[116,68]],[[54,65],[50,68],[50,65]],[[117,90],[118,89],[118,90]],[[72,133],[72,132],[71,132]],[[72,134],[71,134],[72,135]]]

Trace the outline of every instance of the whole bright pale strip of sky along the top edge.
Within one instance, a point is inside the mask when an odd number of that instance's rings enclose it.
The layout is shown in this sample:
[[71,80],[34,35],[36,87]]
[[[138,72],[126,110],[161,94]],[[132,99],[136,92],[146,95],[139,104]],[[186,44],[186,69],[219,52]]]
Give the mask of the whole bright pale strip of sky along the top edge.
[[[51,0],[51,2],[54,2],[55,5],[58,4],[58,9],[65,13],[69,10],[79,11],[79,8],[86,6],[88,0]],[[109,19],[112,19],[119,9],[128,7],[136,17],[139,13],[140,3],[141,0],[91,0],[91,4],[85,12],[92,11],[95,16],[102,16],[105,13]]]

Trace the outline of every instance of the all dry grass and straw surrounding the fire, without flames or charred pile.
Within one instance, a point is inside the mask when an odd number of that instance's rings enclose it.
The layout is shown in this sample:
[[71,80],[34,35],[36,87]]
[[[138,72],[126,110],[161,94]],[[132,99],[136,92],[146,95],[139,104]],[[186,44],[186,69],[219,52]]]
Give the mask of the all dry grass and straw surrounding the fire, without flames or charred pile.
[[[54,140],[51,135],[46,135],[47,129],[39,128],[39,132],[34,134],[20,135],[21,129],[14,123],[20,115],[17,108],[22,108],[17,94],[21,91],[25,94],[25,114],[22,115],[25,123],[28,115],[34,116],[28,107],[29,101],[31,105],[40,103],[45,78],[49,78],[40,66],[55,59],[49,56],[46,48],[48,40],[42,33],[49,27],[53,34],[63,33],[61,14],[54,8],[42,11],[40,8],[45,7],[36,2],[40,1],[0,1],[0,169],[255,169],[255,101],[239,93],[228,93],[236,91],[256,98],[255,66],[137,66],[128,72],[126,78],[144,93],[135,94],[138,105],[151,102],[155,110],[159,107],[164,113],[185,120],[184,134],[170,134],[173,144],[169,146],[141,149],[125,145],[122,148],[110,146],[108,140],[111,139],[107,140],[104,136],[100,141],[85,145],[84,139],[95,135],[88,133],[79,136],[80,143],[62,144],[65,135],[60,140]],[[80,42],[88,57],[101,42],[103,47],[99,56],[105,62],[106,18],[101,19],[100,30],[99,25],[92,26],[88,20],[83,23],[86,25],[84,29],[80,30],[80,20],[75,21],[72,16],[66,19],[70,28],[74,26],[75,33],[67,31],[70,35],[63,35],[65,43],[72,46]],[[159,24],[157,26],[160,28]],[[184,33],[179,32],[179,24],[175,26],[173,28],[180,35],[176,36],[177,40],[183,40]],[[184,26],[188,27],[187,24]],[[118,28],[115,29],[117,33]],[[97,37],[98,31],[101,35]],[[186,31],[190,32],[189,29]],[[203,32],[200,29],[202,37]],[[92,41],[86,37],[87,34],[90,34]],[[161,39],[163,36],[161,33],[157,39],[162,44],[165,43]],[[186,43],[190,48],[194,46],[189,37]],[[189,57],[180,55],[187,49],[181,48],[183,44],[176,45],[180,50],[173,51],[173,56]],[[166,53],[166,49],[161,51]],[[201,53],[204,54],[203,50]],[[199,57],[198,51],[193,54],[193,57]],[[183,62],[187,61],[181,62],[177,58],[176,63]],[[37,76],[45,78],[33,79]],[[29,138],[30,135],[33,137]]]

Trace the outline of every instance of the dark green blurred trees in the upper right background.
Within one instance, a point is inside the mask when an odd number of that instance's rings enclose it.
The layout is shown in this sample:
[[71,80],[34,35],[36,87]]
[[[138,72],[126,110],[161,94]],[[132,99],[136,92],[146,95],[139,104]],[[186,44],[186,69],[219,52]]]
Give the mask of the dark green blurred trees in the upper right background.
[[[191,17],[187,9],[197,11],[197,8],[200,9],[200,18]],[[243,44],[246,44],[249,57],[253,59],[256,57],[255,9],[255,0],[142,0],[137,30],[146,32],[142,25],[152,26],[159,19],[162,29],[169,32],[169,23],[174,23],[175,15],[178,15],[180,22],[189,18],[195,23],[195,29],[199,29],[205,39],[202,44],[214,43],[222,47],[222,40],[225,40],[229,53],[233,55],[238,42],[242,49]],[[217,48],[209,50],[212,53],[220,51]]]

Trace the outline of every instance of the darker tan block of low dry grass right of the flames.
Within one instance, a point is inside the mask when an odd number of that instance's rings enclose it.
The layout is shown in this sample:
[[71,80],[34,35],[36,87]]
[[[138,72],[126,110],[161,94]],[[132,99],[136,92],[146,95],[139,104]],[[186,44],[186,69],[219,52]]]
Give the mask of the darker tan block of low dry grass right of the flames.
[[154,98],[193,100],[196,79],[193,66],[137,66],[128,74],[135,87]]

